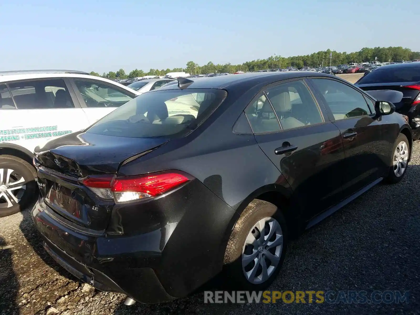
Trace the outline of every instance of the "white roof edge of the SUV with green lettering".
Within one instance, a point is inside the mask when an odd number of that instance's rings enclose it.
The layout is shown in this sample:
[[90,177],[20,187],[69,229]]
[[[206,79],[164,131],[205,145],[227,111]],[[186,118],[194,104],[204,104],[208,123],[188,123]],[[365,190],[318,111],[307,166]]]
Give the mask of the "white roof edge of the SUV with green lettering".
[[11,82],[11,81],[23,81],[33,79],[51,79],[51,78],[81,78],[81,79],[95,79],[97,81],[103,81],[109,84],[116,85],[123,89],[128,89],[134,94],[138,94],[133,89],[127,88],[118,82],[102,78],[100,76],[91,76],[89,74],[69,74],[69,73],[32,73],[32,74],[7,74],[0,75],[0,83]]

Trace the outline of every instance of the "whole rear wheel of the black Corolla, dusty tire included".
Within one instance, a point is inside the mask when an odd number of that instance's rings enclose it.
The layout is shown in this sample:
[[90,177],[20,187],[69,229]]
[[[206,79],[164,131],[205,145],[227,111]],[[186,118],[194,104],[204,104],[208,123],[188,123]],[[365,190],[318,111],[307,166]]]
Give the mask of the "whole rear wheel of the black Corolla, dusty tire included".
[[265,289],[283,265],[286,245],[286,221],[280,210],[270,202],[254,199],[236,222],[226,247],[229,283],[234,289]]

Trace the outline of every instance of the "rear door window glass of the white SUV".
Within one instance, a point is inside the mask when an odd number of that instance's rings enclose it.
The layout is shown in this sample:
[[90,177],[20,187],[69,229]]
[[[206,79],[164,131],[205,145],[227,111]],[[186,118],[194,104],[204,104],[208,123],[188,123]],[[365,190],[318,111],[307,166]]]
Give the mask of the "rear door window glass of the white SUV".
[[62,79],[14,82],[9,88],[18,109],[74,108]]

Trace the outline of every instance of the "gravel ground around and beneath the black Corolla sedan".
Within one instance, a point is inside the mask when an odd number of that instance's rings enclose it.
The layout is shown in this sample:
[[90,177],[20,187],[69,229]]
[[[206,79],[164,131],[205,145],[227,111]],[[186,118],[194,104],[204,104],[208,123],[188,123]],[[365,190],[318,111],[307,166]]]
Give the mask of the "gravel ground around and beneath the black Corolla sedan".
[[270,290],[401,290],[407,304],[204,304],[203,294],[123,305],[60,268],[42,249],[29,211],[0,219],[0,314],[420,314],[420,143],[407,176],[378,185],[291,242]]

